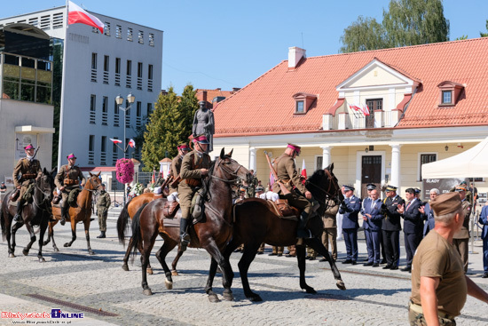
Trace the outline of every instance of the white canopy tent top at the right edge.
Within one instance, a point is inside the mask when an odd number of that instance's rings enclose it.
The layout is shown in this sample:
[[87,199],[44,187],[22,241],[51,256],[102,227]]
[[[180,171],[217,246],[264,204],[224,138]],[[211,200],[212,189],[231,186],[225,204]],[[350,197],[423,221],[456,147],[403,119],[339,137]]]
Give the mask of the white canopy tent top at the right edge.
[[488,178],[488,137],[458,155],[421,166],[422,179]]

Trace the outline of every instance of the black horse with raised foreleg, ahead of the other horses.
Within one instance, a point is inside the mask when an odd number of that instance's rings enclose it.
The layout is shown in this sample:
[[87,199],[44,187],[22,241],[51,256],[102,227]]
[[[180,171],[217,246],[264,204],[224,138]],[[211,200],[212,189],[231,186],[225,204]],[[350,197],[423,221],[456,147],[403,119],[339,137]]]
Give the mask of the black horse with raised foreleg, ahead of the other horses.
[[[332,173],[334,163],[325,170],[318,170],[307,180],[306,187],[313,197],[320,203],[318,214],[309,219],[307,228],[311,230],[313,237],[304,239],[304,243],[316,250],[329,262],[332,273],[334,274],[336,285],[339,289],[345,290],[341,274],[335,266],[334,259],[320,241],[320,236],[324,229],[324,224],[320,218],[327,210],[326,198],[339,197],[343,199],[337,179]],[[299,214],[298,214],[299,215]],[[268,243],[273,246],[288,246],[296,243],[297,221],[291,219],[279,219],[271,204],[258,198],[246,199],[235,205],[235,222],[232,241],[227,246],[224,257],[231,256],[240,243],[244,243],[244,253],[239,261],[240,279],[246,298],[251,301],[262,301],[262,298],[254,293],[248,282],[248,268],[254,258],[261,243]],[[300,269],[300,287],[307,293],[317,293],[305,282],[305,246],[296,246],[296,257]],[[212,259],[210,265],[209,282],[207,288],[212,287],[213,278],[216,273],[216,261]]]

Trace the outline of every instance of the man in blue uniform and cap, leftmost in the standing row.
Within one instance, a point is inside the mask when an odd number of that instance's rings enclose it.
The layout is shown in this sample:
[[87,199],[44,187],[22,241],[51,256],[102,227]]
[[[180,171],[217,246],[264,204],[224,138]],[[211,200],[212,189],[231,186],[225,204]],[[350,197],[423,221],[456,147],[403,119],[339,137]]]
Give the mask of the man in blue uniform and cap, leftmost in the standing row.
[[344,186],[344,200],[339,207],[343,214],[342,235],[346,243],[347,258],[342,264],[356,265],[358,260],[358,213],[361,211],[361,200],[354,195],[354,187]]

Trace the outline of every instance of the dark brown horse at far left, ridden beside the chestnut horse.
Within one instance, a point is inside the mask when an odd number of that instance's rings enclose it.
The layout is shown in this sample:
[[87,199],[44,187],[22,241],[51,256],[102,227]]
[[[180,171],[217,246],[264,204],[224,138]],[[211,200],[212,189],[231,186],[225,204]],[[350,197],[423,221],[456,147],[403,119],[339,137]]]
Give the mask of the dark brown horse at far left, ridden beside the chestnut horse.
[[0,221],[2,223],[2,235],[4,239],[7,239],[9,257],[15,257],[15,233],[20,227],[22,227],[22,225],[25,224],[26,228],[28,229],[28,234],[30,235],[30,243],[28,243],[24,250],[22,250],[22,253],[25,256],[28,255],[28,251],[32,247],[32,244],[35,243],[35,232],[33,226],[39,226],[39,251],[37,253],[37,258],[39,258],[40,262],[45,261],[43,258],[43,241],[44,233],[52,215],[51,199],[52,190],[54,189],[54,171],[48,172],[44,168],[41,178],[35,179],[32,203],[24,206],[22,210],[23,222],[17,222],[12,225],[12,219],[15,215],[17,207],[10,204],[10,195],[12,194],[12,191],[5,195],[2,203],[2,209],[0,210]]

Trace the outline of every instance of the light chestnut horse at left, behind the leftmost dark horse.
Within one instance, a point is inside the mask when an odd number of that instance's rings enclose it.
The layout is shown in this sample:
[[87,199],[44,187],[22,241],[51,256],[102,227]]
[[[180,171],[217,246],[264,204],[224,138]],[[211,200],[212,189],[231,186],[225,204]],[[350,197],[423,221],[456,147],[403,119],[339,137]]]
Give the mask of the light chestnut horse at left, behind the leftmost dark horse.
[[[92,174],[91,172],[89,173],[90,178],[86,181],[83,190],[76,199],[76,207],[70,206],[68,209],[67,221],[71,221],[71,241],[69,243],[65,243],[65,247],[71,247],[71,244],[75,242],[76,223],[83,222],[86,244],[88,246],[88,253],[94,255],[95,252],[91,250],[90,245],[91,196],[93,195],[94,191],[102,189],[102,181],[98,178],[100,172],[98,172],[98,174]],[[44,242],[44,245],[48,244],[52,239],[52,248],[54,248],[54,251],[59,251],[56,243],[54,242],[53,227],[58,223],[58,220],[61,219],[61,209],[58,206],[52,205],[52,215],[53,218],[56,220],[49,222],[48,238]]]

